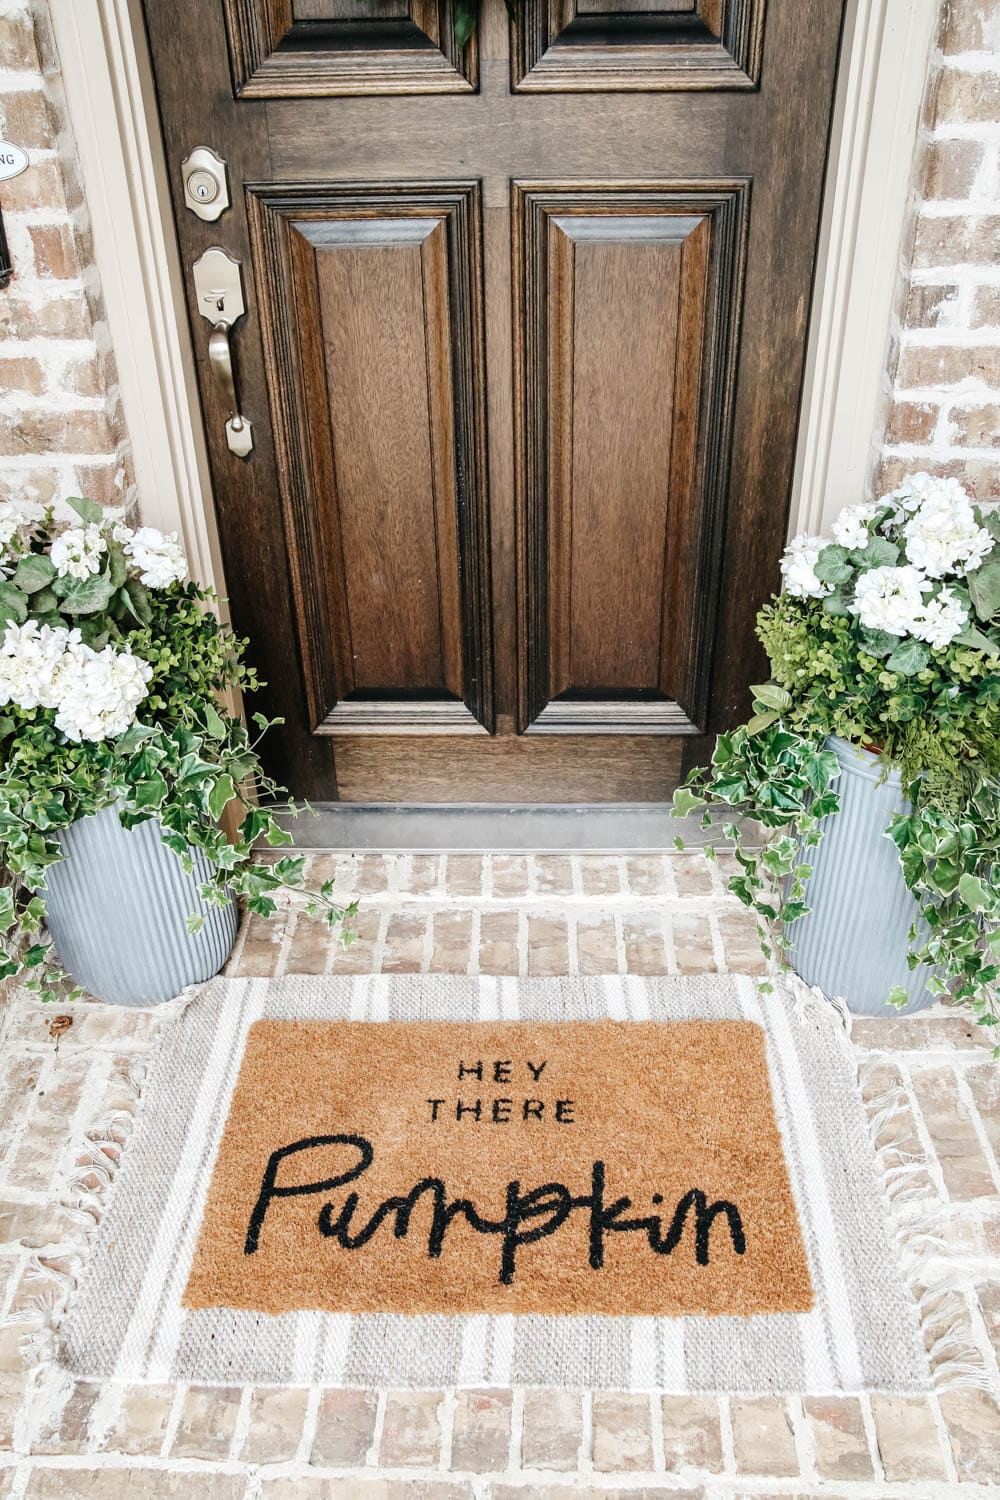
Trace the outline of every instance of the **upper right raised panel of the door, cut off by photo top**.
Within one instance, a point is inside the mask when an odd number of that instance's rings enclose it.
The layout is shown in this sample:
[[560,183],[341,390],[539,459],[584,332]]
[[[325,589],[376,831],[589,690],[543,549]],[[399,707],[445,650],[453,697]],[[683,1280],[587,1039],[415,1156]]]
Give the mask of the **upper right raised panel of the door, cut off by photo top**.
[[522,0],[511,81],[525,92],[754,88],[766,0]]

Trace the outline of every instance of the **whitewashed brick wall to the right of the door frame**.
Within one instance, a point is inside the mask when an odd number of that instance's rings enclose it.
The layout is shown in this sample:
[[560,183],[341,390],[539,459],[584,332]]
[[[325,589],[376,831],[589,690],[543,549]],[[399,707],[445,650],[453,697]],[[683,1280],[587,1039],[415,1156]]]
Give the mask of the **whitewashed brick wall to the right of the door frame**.
[[891,340],[882,486],[915,468],[1000,498],[1000,6],[946,0]]

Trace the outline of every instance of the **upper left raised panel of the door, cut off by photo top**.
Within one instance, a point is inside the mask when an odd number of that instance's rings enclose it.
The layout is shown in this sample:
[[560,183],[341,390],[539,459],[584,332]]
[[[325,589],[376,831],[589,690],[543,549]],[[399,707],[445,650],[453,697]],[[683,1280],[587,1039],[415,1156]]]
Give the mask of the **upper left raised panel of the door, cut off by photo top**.
[[471,93],[475,36],[454,40],[454,0],[223,0],[240,99]]

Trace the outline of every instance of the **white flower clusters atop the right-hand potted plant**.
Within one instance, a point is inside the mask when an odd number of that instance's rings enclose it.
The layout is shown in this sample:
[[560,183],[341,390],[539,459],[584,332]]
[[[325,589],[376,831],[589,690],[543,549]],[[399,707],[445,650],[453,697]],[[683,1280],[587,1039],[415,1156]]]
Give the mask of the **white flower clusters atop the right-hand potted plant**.
[[978,574],[982,586],[979,570],[997,543],[958,480],[912,474],[880,501],[846,506],[831,532],[832,540],[802,534],[789,543],[786,594],[934,651],[963,633],[976,636],[969,579]]

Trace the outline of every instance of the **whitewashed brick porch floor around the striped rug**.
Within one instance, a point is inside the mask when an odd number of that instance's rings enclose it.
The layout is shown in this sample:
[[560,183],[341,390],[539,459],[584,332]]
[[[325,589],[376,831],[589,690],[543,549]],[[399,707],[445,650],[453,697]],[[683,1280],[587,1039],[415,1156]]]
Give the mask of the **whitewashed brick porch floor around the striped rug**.
[[[358,942],[286,914],[244,924],[238,975],[702,974],[760,968],[753,921],[700,855],[315,855],[361,898]],[[871,1094],[906,1088],[936,1233],[961,1250],[966,1334],[991,1392],[649,1398],[556,1390],[111,1386],[21,1368],[79,1227],[72,1143],[127,1108],[147,1011],[12,1002],[0,1052],[0,1500],[666,1500],[1000,1492],[1000,1070],[960,1016],[858,1022]],[[900,1131],[900,1122],[894,1130]]]

